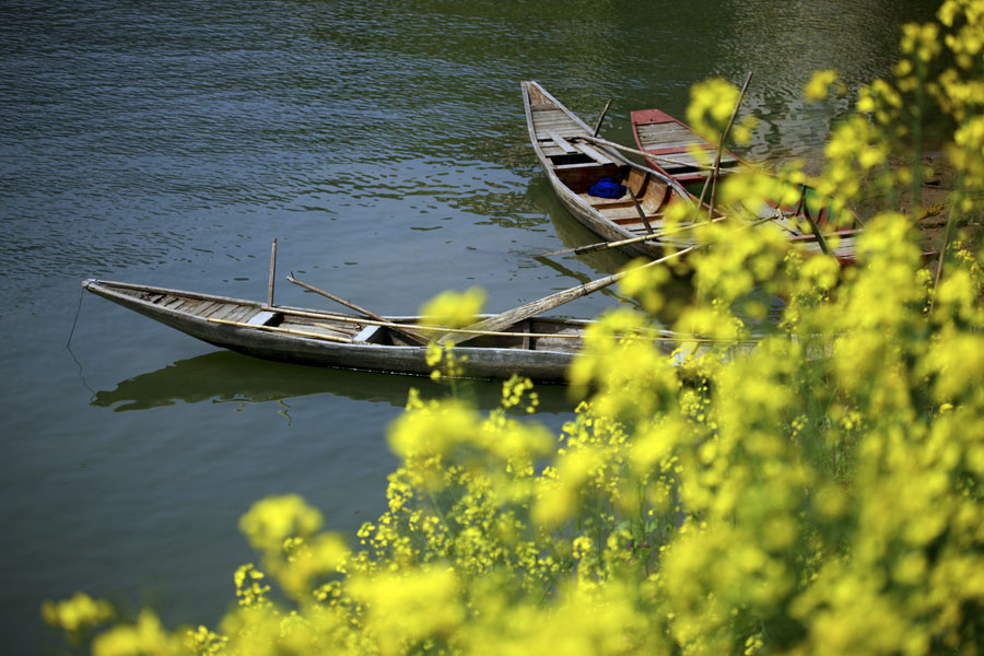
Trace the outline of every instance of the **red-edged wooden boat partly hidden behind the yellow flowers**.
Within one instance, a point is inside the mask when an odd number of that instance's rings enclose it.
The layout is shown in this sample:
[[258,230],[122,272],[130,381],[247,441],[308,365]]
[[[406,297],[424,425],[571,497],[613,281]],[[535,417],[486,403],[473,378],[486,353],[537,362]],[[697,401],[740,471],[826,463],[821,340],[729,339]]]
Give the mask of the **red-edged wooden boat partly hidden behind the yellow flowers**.
[[[660,109],[633,112],[631,120],[635,143],[645,153],[646,163],[682,185],[691,197],[703,197],[705,204],[710,202],[711,192],[705,192],[704,187],[713,166],[708,166],[707,162],[714,161],[717,144]],[[706,150],[705,161],[699,161],[693,149]],[[735,172],[750,169],[750,164],[725,149],[722,151],[718,183]],[[800,186],[799,200],[795,204],[783,206],[773,201],[763,208],[763,215],[777,215],[778,212],[782,216],[775,223],[787,233],[790,242],[801,244],[808,251],[821,251],[825,244],[821,244],[811,230],[800,227],[812,222],[827,239],[837,237],[836,246],[830,247],[831,255],[842,263],[854,261],[855,239],[860,232],[859,221],[854,214],[847,211],[836,214],[829,199],[805,185]]]

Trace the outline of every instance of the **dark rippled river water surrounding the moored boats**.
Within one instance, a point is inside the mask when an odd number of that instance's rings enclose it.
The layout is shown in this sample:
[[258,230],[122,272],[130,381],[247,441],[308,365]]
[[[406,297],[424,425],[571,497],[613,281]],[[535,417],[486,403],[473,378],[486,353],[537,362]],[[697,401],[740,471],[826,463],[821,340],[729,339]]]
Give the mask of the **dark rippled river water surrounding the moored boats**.
[[[378,313],[481,285],[503,311],[614,271],[552,196],[519,81],[631,142],[691,84],[754,72],[752,157],[816,161],[843,103],[810,71],[887,74],[933,2],[4,0],[0,5],[0,641],[50,652],[86,590],[214,622],[254,559],[236,524],[296,492],[352,534],[384,507],[385,433],[429,380],[260,362],[95,296],[89,277],[266,297],[278,266]],[[277,301],[327,307],[280,282]],[[619,303],[596,294],[557,314]],[[70,348],[67,348],[70,347]],[[488,408],[499,386],[467,394]],[[571,418],[541,389],[537,420]]]

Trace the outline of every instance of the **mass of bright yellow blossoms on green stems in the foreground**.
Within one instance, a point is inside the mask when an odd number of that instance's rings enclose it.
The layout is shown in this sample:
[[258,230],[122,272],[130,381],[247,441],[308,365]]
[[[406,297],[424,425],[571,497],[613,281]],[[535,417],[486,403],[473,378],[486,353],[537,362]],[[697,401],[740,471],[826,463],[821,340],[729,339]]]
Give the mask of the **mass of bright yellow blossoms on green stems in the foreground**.
[[[958,103],[946,75],[984,77],[984,2],[947,0],[939,19],[906,27],[894,81],[860,91],[820,178],[793,166],[722,186],[728,219],[695,231],[708,248],[682,338],[626,308],[589,328],[570,373],[584,400],[559,437],[525,417],[537,397],[522,378],[488,413],[413,393],[388,434],[388,506],[352,547],[298,496],[262,500],[241,523],[262,570],[235,573],[239,604],[218,626],[169,630],[143,611],[95,634],[93,653],[979,653],[980,245],[954,239],[927,267],[917,198],[898,202],[912,179],[888,166],[928,90],[957,125],[950,227],[981,221],[984,104]],[[809,93],[835,83],[822,72]],[[736,98],[708,82],[690,118],[719,134]],[[805,181],[834,210],[871,195],[855,267],[774,225],[748,230]],[[657,312],[670,276],[637,269],[621,292]],[[470,321],[477,297],[434,314]],[[453,348],[430,359],[454,366]],[[42,612],[75,640],[114,617],[81,594]]]

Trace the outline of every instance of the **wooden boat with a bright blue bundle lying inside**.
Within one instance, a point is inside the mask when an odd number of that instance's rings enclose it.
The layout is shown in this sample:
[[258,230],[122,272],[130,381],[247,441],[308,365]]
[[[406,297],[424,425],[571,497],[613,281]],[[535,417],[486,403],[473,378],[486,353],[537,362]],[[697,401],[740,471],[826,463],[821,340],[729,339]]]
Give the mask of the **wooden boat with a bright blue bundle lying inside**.
[[[687,190],[658,171],[600,145],[594,130],[542,86],[522,83],[529,139],[558,198],[581,223],[608,242],[658,234],[671,202],[692,203]],[[614,197],[591,194],[608,178]],[[663,244],[689,246],[686,237],[664,237],[622,247],[629,255],[659,257]]]

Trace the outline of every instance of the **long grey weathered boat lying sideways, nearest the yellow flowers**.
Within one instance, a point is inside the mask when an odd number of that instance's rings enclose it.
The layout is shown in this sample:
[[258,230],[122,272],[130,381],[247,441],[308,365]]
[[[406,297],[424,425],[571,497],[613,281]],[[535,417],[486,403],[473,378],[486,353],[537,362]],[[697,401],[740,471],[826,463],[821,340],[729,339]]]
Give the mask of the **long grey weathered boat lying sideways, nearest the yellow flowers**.
[[[82,286],[114,303],[210,344],[300,364],[430,375],[426,347],[401,330],[421,331],[418,317],[365,317],[178,290],[85,280]],[[562,382],[590,321],[530,318],[507,331],[483,333],[455,349],[464,377]],[[440,329],[438,335],[448,329]],[[670,336],[669,332],[665,333]],[[669,337],[657,340],[669,353]]]

